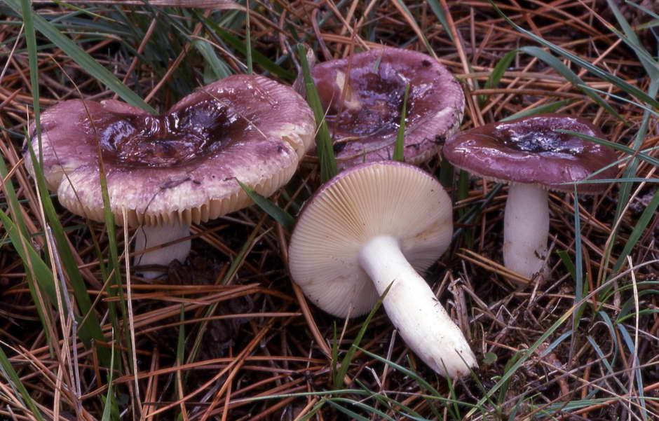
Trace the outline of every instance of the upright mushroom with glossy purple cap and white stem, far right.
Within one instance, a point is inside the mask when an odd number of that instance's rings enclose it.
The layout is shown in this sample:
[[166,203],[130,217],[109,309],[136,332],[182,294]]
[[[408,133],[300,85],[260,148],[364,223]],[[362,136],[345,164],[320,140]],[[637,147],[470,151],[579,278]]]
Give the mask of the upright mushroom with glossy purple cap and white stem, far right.
[[[615,162],[616,153],[595,142],[556,130],[602,138],[585,118],[540,114],[492,123],[456,134],[444,145],[444,158],[486,180],[510,182],[503,225],[505,267],[532,278],[546,276],[549,235],[548,191],[573,191],[581,181]],[[609,167],[592,179],[615,178]],[[606,184],[577,184],[578,193],[595,194]]]

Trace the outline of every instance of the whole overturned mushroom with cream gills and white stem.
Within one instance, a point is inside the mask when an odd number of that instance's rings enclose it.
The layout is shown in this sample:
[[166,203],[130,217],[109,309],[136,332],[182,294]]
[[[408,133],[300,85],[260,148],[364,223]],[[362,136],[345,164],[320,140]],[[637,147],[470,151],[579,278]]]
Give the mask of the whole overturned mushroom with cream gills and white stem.
[[449,247],[452,207],[444,188],[418,167],[393,161],[357,165],[308,200],[292,233],[291,277],[338,317],[383,306],[405,343],[450,377],[475,356],[419,275]]

